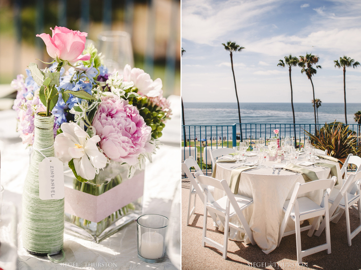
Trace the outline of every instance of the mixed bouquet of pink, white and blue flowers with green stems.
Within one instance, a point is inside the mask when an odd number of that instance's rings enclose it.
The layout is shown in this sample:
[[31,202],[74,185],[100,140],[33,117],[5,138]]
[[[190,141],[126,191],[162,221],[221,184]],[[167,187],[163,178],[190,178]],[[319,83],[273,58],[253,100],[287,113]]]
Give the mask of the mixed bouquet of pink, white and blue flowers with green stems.
[[[50,66],[41,70],[30,63],[27,76],[12,81],[18,131],[32,146],[36,113],[53,114],[55,156],[69,166],[75,189],[100,195],[151,160],[171,114],[169,103],[160,78],[128,64],[120,72],[108,70],[94,45],[85,48],[87,33],[57,26],[52,32],[37,35],[54,58]],[[97,223],[106,227],[133,209],[129,203]],[[68,219],[85,229],[92,223]]]

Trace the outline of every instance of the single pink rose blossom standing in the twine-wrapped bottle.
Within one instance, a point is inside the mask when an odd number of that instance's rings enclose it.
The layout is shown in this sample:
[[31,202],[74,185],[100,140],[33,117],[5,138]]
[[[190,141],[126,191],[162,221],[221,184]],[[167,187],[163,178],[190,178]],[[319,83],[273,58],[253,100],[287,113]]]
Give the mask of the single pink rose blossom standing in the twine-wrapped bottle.
[[50,57],[56,58],[58,56],[61,60],[69,62],[76,62],[78,60],[89,60],[90,54],[81,55],[85,48],[85,37],[88,35],[86,32],[73,31],[67,27],[55,26],[53,36],[50,34],[42,33],[37,34],[40,36],[47,46],[47,51]]

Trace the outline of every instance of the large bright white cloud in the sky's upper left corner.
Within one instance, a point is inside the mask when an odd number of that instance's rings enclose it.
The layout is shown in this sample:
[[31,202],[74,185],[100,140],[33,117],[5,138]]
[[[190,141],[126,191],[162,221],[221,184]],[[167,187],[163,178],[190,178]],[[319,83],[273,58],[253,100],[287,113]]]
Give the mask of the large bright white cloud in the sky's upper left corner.
[[[182,2],[182,38],[196,43],[218,45],[216,40],[246,28],[276,7],[281,0],[188,0]],[[240,15],[242,14],[242,15]]]

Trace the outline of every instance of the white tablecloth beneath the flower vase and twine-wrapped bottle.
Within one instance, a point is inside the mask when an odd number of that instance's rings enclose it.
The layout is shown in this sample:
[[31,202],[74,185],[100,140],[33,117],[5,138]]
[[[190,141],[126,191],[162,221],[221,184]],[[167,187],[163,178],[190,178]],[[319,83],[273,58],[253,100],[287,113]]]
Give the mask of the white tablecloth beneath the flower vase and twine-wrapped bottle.
[[[180,97],[173,96],[172,105],[180,107]],[[174,125],[180,126],[180,114],[178,113],[174,113],[170,120],[169,126]],[[29,166],[29,149],[26,149],[26,146],[20,141],[15,128],[15,112],[13,110],[0,111],[1,184],[5,187],[4,205],[15,205],[17,214],[14,213],[12,216],[15,215],[18,219],[18,247],[16,247],[16,241],[11,237],[4,235],[0,237],[0,240],[3,241],[2,248],[12,245],[12,251],[9,251],[7,255],[0,253],[0,267],[3,267],[4,270],[176,269],[168,257],[160,263],[146,263],[137,257],[136,222],[132,222],[100,243],[64,234],[65,259],[61,265],[49,261],[47,257],[36,257],[29,254],[23,247],[21,235],[22,192]],[[166,126],[163,133],[167,134],[167,129]],[[172,128],[169,129],[169,132],[173,132]],[[165,135],[164,137],[166,137],[164,143],[167,145],[161,145],[153,156],[153,162],[146,164],[143,212],[158,213],[169,217],[173,193],[180,180],[179,175],[181,175],[180,147],[173,146],[179,143],[180,133],[178,136]],[[12,227],[9,226],[10,219],[11,217],[7,217],[7,220],[0,223],[0,232],[12,230]],[[3,225],[4,227],[2,227]],[[16,248],[18,255],[14,258]],[[0,249],[0,252],[2,250]]]

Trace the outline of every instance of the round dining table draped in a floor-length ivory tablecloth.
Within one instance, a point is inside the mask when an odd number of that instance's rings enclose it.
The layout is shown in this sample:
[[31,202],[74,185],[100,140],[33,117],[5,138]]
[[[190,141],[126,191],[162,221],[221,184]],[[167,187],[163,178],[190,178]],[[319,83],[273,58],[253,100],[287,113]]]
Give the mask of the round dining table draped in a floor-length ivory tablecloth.
[[[248,155],[252,156],[247,157],[247,162],[253,163],[257,158],[254,152],[249,152]],[[297,182],[305,182],[301,173],[284,169],[273,170],[274,165],[286,165],[287,160],[289,163],[288,158],[285,158],[285,160],[282,160],[280,163],[277,162],[277,160],[266,160],[263,162],[262,167],[243,171],[240,177],[238,194],[253,198],[253,205],[243,210],[243,214],[252,230],[254,240],[266,254],[277,247],[279,228],[284,217],[283,204],[287,199],[291,198],[295,184]],[[303,161],[306,161],[306,155],[301,153],[296,164],[300,165],[299,163]],[[335,164],[337,168],[337,178],[342,179],[339,163],[318,158],[315,162]],[[241,165],[242,163],[217,162],[216,178],[219,180],[225,179],[229,183],[232,169]],[[313,170],[318,179],[331,177],[330,168],[317,166],[317,164],[302,167]],[[339,184],[334,188],[340,189],[341,185],[342,180],[339,180]],[[225,195],[224,191],[215,188],[214,198],[216,200]],[[319,204],[322,200],[322,191],[312,191],[301,194],[300,196],[306,196]],[[239,224],[237,216],[233,217],[230,221]],[[312,222],[312,220],[309,221]],[[224,231],[220,220],[217,221],[217,224],[219,230]],[[290,219],[286,231],[293,230],[294,228],[294,221]],[[316,229],[317,228],[318,225]],[[247,235],[233,228],[230,230],[229,239],[244,241],[247,244],[250,243]]]

